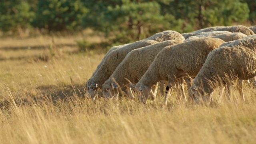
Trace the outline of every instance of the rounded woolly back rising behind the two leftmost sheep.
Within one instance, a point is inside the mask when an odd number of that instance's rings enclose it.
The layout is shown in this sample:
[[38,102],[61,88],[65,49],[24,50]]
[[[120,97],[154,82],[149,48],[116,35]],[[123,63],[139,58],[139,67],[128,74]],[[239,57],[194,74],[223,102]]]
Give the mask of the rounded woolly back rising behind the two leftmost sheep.
[[163,32],[158,32],[145,40],[155,40],[157,42],[164,42],[166,40],[185,40],[185,38],[176,31],[173,30],[166,30]]

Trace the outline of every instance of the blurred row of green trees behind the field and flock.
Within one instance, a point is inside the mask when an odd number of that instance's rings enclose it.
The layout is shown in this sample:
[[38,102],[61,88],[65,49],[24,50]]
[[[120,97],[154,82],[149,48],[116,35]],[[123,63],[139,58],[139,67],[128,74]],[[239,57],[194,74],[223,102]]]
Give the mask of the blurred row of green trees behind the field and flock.
[[254,25],[256,0],[9,0],[0,1],[0,30],[102,32],[113,43],[164,30]]

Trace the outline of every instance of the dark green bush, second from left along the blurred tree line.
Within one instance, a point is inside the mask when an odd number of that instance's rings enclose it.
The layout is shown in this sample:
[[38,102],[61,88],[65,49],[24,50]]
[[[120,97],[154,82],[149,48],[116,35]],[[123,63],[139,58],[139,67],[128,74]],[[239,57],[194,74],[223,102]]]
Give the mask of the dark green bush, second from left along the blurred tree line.
[[86,8],[80,0],[39,0],[33,26],[48,30],[77,30]]

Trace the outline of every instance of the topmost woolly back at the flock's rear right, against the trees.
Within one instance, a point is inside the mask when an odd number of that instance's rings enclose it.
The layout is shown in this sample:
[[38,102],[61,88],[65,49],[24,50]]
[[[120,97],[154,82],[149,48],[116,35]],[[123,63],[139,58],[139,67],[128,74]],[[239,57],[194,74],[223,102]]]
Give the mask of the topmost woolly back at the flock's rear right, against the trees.
[[247,36],[254,34],[250,28],[242,25],[237,25],[237,26],[226,26],[224,28],[218,28],[214,31],[229,31],[229,32],[242,32],[243,34],[246,34]]

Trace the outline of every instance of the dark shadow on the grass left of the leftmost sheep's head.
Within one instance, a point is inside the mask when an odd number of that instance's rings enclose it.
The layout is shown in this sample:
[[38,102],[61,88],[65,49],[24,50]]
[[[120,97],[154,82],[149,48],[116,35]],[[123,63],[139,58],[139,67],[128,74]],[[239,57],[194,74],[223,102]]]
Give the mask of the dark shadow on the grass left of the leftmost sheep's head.
[[78,84],[67,86],[38,86],[36,94],[34,92],[26,92],[26,94],[18,94],[15,97],[18,98],[9,98],[0,102],[0,108],[5,109],[12,105],[31,106],[46,102],[56,104],[60,101],[75,100],[78,97],[85,98],[85,88],[84,85]]

